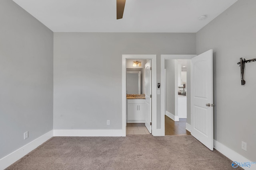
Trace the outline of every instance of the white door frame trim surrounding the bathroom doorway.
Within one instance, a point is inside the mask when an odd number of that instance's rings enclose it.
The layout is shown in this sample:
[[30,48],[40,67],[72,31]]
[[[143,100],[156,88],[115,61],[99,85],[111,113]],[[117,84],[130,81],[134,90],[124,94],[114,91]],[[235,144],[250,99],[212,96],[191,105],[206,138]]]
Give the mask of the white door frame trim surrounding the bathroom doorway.
[[122,136],[126,136],[126,59],[151,59],[152,61],[152,135],[157,136],[156,55],[122,55]]

